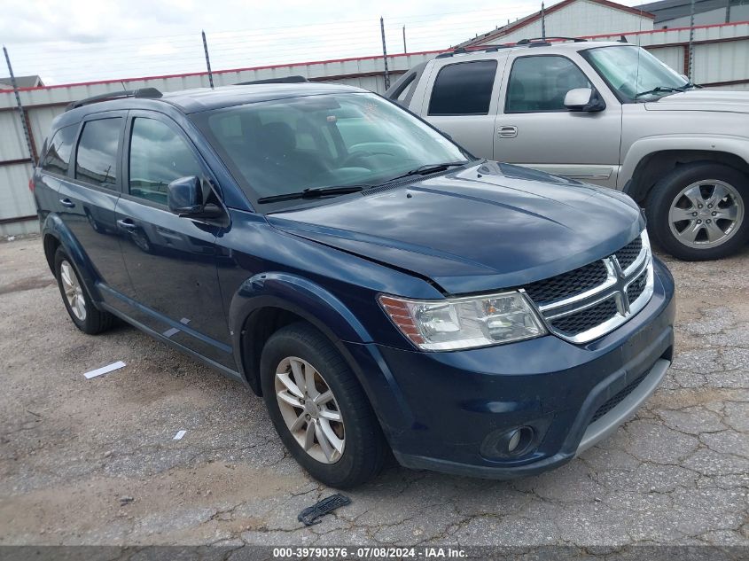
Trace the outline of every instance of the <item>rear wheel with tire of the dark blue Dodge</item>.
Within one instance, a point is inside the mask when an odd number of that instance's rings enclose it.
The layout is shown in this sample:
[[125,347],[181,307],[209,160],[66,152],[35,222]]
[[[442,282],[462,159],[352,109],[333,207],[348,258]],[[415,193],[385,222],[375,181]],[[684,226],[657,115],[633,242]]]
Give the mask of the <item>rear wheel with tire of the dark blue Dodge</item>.
[[[89,335],[96,335],[112,327],[114,316],[94,306],[88,288],[62,247],[58,247],[55,252],[55,277],[58,279],[63,304],[75,327]],[[69,297],[69,294],[72,296]]]

